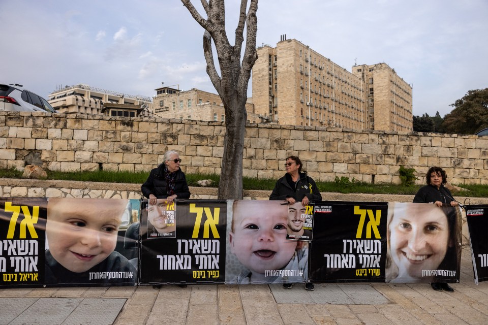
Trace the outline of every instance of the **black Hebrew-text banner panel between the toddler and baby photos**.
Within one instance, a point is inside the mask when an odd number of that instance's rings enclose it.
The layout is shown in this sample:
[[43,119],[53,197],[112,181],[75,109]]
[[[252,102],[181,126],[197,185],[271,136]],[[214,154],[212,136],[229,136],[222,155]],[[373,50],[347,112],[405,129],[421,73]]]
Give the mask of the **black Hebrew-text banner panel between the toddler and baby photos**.
[[224,283],[225,200],[141,202],[141,284]]

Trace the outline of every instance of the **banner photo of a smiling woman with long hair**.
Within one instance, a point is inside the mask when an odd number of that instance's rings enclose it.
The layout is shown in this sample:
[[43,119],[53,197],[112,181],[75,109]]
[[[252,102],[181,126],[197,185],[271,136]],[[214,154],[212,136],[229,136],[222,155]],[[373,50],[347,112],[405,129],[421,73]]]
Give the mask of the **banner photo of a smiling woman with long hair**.
[[387,282],[459,282],[459,206],[390,203],[387,243]]

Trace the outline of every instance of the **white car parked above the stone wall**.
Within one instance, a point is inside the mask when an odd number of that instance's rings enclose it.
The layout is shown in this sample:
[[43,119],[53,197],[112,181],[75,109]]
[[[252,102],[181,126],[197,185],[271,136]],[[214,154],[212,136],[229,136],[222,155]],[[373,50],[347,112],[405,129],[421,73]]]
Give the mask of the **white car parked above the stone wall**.
[[0,84],[0,111],[56,113],[49,103],[19,84]]

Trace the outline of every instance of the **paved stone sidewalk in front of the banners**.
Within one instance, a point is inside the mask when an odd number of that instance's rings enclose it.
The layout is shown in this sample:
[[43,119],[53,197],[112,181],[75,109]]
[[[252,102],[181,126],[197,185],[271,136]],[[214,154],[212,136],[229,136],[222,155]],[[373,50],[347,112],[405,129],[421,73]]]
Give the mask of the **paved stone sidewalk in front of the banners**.
[[174,285],[0,290],[0,324],[488,324],[468,246],[454,293],[428,284]]

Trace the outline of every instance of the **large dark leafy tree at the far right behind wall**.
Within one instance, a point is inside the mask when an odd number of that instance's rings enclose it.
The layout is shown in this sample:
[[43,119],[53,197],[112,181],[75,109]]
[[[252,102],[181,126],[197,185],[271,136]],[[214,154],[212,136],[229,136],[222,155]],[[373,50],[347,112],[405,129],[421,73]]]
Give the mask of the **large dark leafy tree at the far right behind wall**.
[[454,109],[444,116],[441,132],[475,134],[488,127],[488,88],[469,90],[451,106]]

